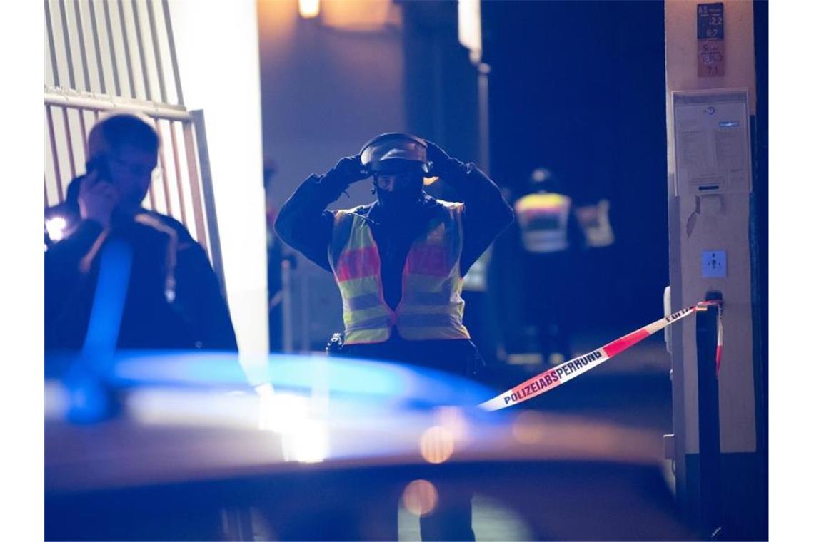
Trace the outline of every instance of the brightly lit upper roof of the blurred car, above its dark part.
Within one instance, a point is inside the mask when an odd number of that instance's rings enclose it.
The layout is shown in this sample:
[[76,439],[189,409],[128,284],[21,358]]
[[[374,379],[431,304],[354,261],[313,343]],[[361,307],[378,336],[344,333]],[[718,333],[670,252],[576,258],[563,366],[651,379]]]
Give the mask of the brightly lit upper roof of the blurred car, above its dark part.
[[124,413],[65,419],[46,381],[46,488],[70,490],[264,473],[319,463],[479,459],[654,464],[659,442],[630,428],[531,410],[484,412],[496,394],[467,379],[384,362],[269,356],[255,388],[233,354],[125,353],[110,381]]

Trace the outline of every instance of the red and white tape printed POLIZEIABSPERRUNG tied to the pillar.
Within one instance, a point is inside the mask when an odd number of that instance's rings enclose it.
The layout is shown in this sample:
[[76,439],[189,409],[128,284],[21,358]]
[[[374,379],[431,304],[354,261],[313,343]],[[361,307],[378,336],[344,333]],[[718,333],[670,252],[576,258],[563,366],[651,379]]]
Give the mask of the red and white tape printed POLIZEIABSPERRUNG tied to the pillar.
[[[632,345],[636,345],[641,340],[653,335],[655,332],[663,330],[665,327],[685,319],[690,314],[694,314],[698,310],[707,310],[709,306],[719,306],[720,301],[701,301],[694,306],[689,306],[685,309],[678,310],[663,319],[656,320],[645,327],[637,329],[637,331],[628,333],[619,339],[612,340],[602,348],[595,349],[589,353],[583,354],[567,362],[562,362],[558,366],[550,368],[548,371],[543,371],[539,375],[532,376],[522,384],[514,386],[510,390],[501,393],[497,397],[493,397],[488,401],[484,401],[479,406],[484,410],[500,410],[509,406],[514,406],[523,401],[528,401],[532,397],[537,397],[545,392],[558,387],[560,384],[565,384],[568,380],[575,379],[577,376],[590,371],[594,367],[606,362],[613,358],[616,354],[622,353],[629,349]],[[717,345],[716,345],[716,374],[720,369],[720,358],[724,346],[724,319],[723,310],[718,310],[717,321]]]

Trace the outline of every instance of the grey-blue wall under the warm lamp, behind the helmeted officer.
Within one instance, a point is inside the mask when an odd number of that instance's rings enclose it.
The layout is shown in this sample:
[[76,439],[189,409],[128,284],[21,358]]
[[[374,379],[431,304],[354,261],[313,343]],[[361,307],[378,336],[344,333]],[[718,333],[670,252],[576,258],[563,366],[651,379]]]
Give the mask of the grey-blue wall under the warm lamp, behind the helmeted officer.
[[[405,130],[399,28],[348,32],[300,18],[295,0],[257,2],[263,150],[282,203],[309,174],[324,173],[381,132]],[[344,206],[370,200],[354,185]]]

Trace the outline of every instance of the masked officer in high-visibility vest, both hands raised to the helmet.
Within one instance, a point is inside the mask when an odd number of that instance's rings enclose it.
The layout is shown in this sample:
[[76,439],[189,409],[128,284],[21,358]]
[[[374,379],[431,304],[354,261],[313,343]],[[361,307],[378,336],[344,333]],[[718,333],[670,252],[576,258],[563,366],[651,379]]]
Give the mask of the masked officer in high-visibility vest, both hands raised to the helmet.
[[[371,175],[375,202],[326,210],[349,184]],[[428,196],[428,176],[446,180],[462,202]],[[462,323],[462,276],[512,218],[474,164],[419,137],[387,133],[325,175],[309,176],[275,227],[333,273],[343,301],[343,355],[473,375],[482,362]],[[422,540],[474,540],[469,497],[442,495],[443,512],[421,519]]]

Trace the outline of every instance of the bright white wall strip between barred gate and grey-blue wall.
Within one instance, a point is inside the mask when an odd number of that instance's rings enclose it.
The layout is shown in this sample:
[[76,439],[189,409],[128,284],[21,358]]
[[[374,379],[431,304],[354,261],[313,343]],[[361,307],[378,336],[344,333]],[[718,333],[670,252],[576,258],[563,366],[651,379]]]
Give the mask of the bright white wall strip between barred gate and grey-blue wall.
[[226,292],[242,353],[268,351],[255,2],[169,2],[184,102],[204,110]]

